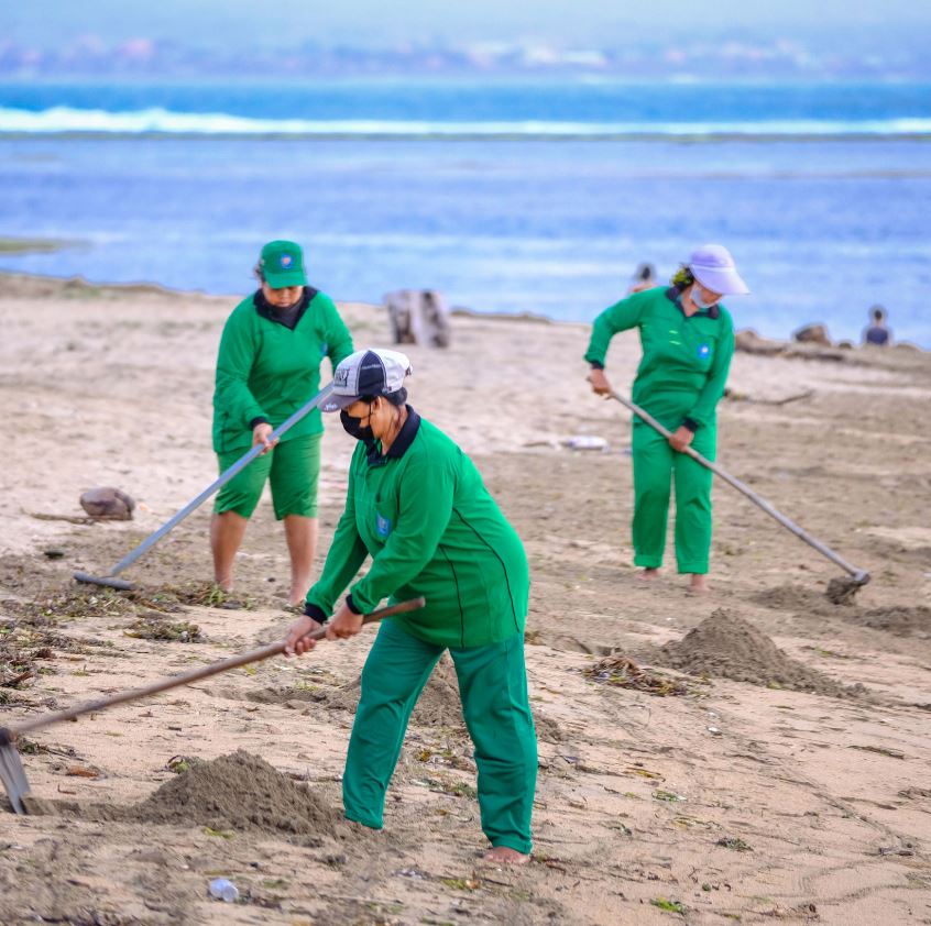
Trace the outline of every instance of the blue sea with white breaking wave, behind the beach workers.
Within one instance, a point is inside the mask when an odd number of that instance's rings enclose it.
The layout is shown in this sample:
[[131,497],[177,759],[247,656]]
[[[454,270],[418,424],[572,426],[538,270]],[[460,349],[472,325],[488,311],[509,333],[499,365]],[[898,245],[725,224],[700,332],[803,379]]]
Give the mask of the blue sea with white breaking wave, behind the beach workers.
[[240,294],[313,283],[589,321],[635,266],[727,245],[738,327],[931,348],[931,85],[609,79],[0,84],[0,268]]

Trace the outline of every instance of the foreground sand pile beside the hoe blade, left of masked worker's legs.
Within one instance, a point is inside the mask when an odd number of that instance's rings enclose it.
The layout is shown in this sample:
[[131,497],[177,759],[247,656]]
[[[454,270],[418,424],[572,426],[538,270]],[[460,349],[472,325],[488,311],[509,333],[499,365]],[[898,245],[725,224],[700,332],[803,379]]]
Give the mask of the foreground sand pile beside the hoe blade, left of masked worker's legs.
[[333,836],[341,819],[337,809],[306,785],[241,749],[193,764],[130,808],[127,816],[147,823],[295,836]]

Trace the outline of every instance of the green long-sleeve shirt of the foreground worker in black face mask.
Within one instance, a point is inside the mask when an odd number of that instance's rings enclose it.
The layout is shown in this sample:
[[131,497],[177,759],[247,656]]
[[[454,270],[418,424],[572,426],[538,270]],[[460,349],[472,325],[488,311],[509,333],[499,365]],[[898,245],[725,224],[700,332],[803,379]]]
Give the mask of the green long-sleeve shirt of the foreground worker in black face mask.
[[349,468],[346,510],[307,604],[320,618],[351,588],[352,605],[374,610],[423,595],[425,608],[393,617],[414,637],[477,647],[522,632],[529,575],[516,531],[472,461],[408,406],[385,456],[360,442]]

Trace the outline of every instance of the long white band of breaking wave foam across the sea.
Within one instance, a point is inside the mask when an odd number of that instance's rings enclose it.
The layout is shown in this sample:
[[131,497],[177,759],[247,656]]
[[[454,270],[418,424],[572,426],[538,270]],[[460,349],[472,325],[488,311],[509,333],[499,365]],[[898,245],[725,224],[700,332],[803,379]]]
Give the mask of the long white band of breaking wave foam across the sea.
[[741,122],[435,122],[407,120],[252,119],[209,112],[144,109],[111,112],[100,109],[53,107],[33,112],[0,107],[0,133],[180,135],[316,135],[321,137],[501,137],[611,139],[726,136],[916,136],[931,135],[931,119],[759,120]]

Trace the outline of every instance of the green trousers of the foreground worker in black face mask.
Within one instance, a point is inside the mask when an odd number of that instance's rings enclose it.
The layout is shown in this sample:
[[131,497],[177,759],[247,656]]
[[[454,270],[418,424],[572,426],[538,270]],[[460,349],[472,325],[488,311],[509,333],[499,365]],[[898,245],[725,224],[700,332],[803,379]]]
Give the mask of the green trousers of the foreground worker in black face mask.
[[[382,828],[385,792],[410,712],[443,647],[385,620],[362,670],[362,694],[342,779],[346,816]],[[537,738],[527,699],[524,635],[450,649],[462,713],[475,747],[482,830],[492,846],[530,851]]]

